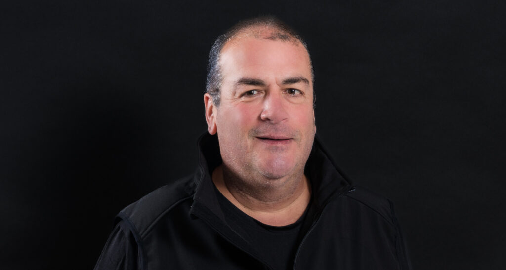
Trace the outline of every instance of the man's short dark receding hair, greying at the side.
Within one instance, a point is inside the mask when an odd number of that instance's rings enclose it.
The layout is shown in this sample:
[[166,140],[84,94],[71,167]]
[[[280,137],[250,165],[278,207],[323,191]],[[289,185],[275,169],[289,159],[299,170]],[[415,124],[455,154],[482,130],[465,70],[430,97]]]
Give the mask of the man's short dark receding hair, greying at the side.
[[[288,27],[284,22],[273,16],[256,17],[238,22],[236,25],[228,29],[224,34],[218,36],[211,51],[209,52],[209,61],[207,62],[207,77],[205,81],[205,92],[213,98],[215,106],[220,106],[220,90],[223,76],[219,65],[221,51],[225,44],[236,37],[237,34],[244,30],[255,27],[269,27],[275,31],[267,39],[301,42],[306,49],[308,55],[309,50],[304,39],[292,28]],[[311,69],[311,81],[313,83],[313,108],[316,105],[316,95],[314,91],[314,72],[311,56],[309,56],[309,65]]]

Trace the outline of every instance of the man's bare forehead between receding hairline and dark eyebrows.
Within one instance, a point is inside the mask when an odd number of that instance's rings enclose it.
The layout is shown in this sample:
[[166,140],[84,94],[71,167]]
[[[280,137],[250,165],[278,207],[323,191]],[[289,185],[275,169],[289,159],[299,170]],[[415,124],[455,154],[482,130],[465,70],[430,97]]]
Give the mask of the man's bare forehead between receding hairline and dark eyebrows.
[[278,79],[303,76],[311,80],[311,62],[303,44],[295,39],[272,40],[240,35],[229,40],[220,56],[223,82],[240,77]]

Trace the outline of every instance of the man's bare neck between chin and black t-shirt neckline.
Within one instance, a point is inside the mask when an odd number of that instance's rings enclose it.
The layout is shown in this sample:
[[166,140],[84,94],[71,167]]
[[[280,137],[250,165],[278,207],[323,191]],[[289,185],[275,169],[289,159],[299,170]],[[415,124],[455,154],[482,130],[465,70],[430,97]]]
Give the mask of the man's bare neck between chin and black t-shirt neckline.
[[311,187],[304,173],[284,179],[263,179],[275,185],[248,185],[233,173],[218,166],[213,182],[232,204],[245,214],[271,226],[285,226],[296,222],[311,199]]

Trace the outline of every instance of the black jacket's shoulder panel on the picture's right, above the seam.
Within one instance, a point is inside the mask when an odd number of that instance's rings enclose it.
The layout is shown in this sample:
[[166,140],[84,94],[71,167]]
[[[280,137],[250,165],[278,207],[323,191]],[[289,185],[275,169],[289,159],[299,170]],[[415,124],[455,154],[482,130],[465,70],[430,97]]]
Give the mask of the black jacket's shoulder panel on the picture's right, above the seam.
[[393,203],[382,195],[374,193],[364,187],[355,186],[353,191],[346,193],[346,196],[364,204],[372,211],[383,216],[390,223],[394,223]]

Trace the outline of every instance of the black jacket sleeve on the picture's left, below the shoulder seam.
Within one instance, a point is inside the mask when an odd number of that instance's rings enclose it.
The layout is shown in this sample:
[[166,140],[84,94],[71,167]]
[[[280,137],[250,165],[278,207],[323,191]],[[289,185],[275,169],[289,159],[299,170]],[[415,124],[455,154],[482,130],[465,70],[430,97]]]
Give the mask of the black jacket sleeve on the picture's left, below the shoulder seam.
[[137,270],[139,248],[135,237],[123,220],[114,227],[98,258],[95,270]]

